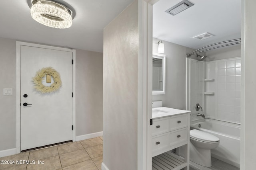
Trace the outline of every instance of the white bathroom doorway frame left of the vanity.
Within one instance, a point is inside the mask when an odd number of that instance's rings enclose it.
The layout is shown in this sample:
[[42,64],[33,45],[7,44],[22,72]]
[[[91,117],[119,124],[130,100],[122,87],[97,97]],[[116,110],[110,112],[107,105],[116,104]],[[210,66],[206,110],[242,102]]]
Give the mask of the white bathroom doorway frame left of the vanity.
[[138,0],[138,169],[152,169],[152,27],[153,4],[159,0]]

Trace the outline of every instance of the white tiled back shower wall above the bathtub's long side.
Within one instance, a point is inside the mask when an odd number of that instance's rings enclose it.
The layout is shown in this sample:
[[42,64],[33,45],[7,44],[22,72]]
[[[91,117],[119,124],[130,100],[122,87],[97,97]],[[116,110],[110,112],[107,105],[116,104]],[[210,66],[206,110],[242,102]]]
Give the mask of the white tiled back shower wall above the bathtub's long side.
[[240,122],[241,58],[205,62],[205,68],[205,92],[214,92],[204,95],[207,117]]

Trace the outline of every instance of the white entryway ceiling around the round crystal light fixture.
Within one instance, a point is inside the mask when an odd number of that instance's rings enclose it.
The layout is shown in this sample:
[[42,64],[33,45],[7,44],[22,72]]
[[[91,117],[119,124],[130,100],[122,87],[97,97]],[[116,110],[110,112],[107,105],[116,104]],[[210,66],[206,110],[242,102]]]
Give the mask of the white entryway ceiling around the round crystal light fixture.
[[2,0],[0,37],[103,52],[103,29],[133,0],[55,0],[76,16],[68,29],[46,27],[30,16],[29,0]]

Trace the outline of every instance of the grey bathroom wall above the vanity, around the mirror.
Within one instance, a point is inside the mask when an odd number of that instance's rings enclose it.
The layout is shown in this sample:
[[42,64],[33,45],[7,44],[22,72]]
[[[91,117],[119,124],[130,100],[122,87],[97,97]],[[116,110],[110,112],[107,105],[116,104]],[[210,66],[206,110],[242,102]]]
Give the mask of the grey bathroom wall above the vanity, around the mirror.
[[[158,41],[159,39],[153,38],[153,42]],[[164,107],[186,109],[186,54],[194,49],[168,41],[163,43],[166,55],[166,92],[162,95],[153,95],[152,100],[162,100]],[[157,53],[157,49],[158,44],[153,43],[153,53]],[[197,59],[196,55],[191,58]]]

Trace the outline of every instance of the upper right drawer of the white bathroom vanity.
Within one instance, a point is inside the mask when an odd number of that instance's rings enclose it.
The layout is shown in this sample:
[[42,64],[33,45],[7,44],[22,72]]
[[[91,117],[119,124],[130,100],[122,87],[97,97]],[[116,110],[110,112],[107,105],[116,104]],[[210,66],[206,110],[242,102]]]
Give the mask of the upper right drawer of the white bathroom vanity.
[[187,114],[170,117],[170,131],[174,131],[176,129],[182,129],[184,127],[188,127]]

